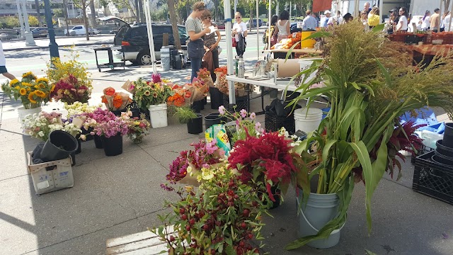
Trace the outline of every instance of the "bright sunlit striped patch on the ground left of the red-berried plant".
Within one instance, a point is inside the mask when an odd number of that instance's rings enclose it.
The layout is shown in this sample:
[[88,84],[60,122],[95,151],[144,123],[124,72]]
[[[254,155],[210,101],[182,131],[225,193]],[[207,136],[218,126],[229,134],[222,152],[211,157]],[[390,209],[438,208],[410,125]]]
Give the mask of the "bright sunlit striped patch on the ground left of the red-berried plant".
[[[168,227],[168,234],[173,233],[173,227]],[[159,236],[151,231],[130,234],[107,240],[106,255],[154,255],[161,254],[167,246]]]

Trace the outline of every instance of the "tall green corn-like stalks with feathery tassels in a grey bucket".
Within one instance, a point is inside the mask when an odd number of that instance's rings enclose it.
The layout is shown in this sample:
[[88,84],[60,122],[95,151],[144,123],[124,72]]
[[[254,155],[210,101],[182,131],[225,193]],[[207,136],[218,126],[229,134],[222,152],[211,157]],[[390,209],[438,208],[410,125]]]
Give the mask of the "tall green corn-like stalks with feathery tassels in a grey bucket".
[[[364,33],[355,22],[336,26],[325,38],[324,60],[315,61],[297,77],[301,94],[290,105],[306,99],[311,106],[319,94],[331,100],[331,110],[318,130],[295,148],[304,158],[297,186],[308,198],[310,182],[306,180],[318,176],[316,193],[337,193],[340,208],[318,234],[297,239],[286,249],[326,238],[339,229],[345,223],[355,181],[365,182],[370,231],[372,194],[384,171],[393,170],[389,162],[395,155],[388,149],[391,136],[396,129],[404,132],[398,118],[424,106],[441,107],[452,118],[452,57],[435,57],[428,65],[414,67],[404,46],[389,42],[377,30]],[[317,76],[309,80],[306,74],[315,71]],[[311,87],[320,81],[326,86]],[[311,142],[316,149],[308,154]]]

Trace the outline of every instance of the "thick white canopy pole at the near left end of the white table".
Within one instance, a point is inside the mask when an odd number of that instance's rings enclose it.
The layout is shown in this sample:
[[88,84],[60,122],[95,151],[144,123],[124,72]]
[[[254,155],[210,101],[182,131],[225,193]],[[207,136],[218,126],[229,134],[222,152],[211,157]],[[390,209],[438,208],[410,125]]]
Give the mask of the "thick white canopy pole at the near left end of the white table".
[[[229,0],[224,0],[224,13],[225,13],[225,38],[226,38],[226,69],[228,75],[233,75],[233,44],[231,38],[231,5]],[[228,81],[228,96],[229,103],[236,103],[236,93],[234,91],[234,81]]]

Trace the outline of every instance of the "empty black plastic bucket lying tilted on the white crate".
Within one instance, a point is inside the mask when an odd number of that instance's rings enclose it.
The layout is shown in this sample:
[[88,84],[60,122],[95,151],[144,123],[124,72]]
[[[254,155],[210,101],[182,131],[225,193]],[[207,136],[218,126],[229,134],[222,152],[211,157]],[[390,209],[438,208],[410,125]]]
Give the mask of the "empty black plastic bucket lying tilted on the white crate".
[[62,130],[52,131],[49,139],[42,147],[41,159],[44,162],[66,159],[69,154],[76,152],[79,144],[76,137]]

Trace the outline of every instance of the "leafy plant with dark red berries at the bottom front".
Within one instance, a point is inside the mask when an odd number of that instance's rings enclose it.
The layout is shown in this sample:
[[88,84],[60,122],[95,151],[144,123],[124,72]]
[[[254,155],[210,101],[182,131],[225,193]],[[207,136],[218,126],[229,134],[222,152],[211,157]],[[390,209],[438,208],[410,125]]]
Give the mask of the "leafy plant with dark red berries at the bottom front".
[[[195,191],[177,191],[180,200],[166,202],[172,212],[159,215],[163,226],[151,229],[167,245],[168,254],[259,254],[252,240],[261,240],[265,194],[241,183],[220,166]],[[173,229],[173,232],[169,231]]]

